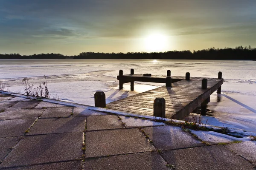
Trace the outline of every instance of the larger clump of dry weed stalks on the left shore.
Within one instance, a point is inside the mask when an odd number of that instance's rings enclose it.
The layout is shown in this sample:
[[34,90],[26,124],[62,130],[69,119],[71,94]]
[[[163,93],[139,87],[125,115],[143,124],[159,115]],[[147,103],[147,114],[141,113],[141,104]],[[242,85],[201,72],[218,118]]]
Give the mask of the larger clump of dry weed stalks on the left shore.
[[45,82],[42,82],[42,85],[40,84],[38,87],[34,88],[34,85],[30,85],[29,84],[29,79],[28,78],[24,78],[23,80],[21,80],[23,82],[23,85],[25,87],[25,94],[27,96],[35,96],[35,97],[41,97],[41,98],[50,98],[50,93],[49,93],[49,89],[47,87],[47,77],[44,76]]

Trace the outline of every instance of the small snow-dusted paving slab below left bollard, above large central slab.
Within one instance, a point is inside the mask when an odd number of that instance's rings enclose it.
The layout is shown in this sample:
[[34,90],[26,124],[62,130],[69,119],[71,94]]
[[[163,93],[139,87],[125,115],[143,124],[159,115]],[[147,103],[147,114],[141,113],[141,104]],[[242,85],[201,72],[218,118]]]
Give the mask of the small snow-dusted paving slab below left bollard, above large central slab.
[[106,130],[124,128],[116,115],[87,117],[87,130]]

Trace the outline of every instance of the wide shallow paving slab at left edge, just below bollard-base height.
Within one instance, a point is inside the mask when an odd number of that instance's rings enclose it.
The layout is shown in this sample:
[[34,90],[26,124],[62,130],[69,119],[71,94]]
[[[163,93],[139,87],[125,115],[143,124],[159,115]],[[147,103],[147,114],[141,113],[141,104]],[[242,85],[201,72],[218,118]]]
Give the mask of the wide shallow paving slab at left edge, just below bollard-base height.
[[6,109],[0,113],[0,120],[30,119],[40,116],[45,109]]

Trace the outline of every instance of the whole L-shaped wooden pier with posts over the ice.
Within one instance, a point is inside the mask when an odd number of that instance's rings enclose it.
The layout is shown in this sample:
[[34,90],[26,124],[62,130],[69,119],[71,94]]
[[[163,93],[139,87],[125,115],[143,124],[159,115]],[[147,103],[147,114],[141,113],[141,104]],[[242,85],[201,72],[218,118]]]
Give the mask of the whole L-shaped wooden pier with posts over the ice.
[[171,76],[170,71],[167,71],[167,76],[143,76],[133,73],[133,69],[131,74],[127,75],[122,75],[122,70],[119,72],[117,79],[119,79],[120,89],[123,83],[131,82],[131,90],[134,90],[134,81],[166,83],[166,86],[108,103],[107,108],[183,119],[201,106],[201,113],[205,114],[209,96],[217,89],[218,93],[221,93],[221,85],[224,81],[221,72],[218,73],[218,78],[190,77],[189,73],[186,73],[186,77]]

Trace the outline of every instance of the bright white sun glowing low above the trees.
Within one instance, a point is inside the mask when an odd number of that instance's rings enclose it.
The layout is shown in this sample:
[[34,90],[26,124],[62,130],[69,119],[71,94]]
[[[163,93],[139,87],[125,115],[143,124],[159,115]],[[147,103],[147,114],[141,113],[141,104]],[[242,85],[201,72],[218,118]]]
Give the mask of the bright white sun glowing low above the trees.
[[150,34],[145,37],[145,48],[149,52],[159,52],[168,46],[168,37],[164,34]]

